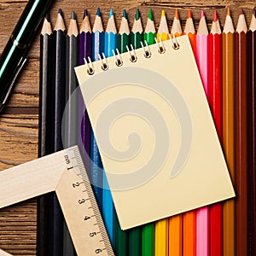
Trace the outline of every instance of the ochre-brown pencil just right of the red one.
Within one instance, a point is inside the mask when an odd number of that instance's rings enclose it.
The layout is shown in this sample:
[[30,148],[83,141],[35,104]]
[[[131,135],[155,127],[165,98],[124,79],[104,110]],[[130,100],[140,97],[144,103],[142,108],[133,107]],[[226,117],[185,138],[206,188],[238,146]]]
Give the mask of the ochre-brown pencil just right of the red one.
[[[223,148],[232,183],[235,184],[235,29],[230,16],[226,15],[223,31]],[[235,200],[225,201],[224,255],[235,255]]]

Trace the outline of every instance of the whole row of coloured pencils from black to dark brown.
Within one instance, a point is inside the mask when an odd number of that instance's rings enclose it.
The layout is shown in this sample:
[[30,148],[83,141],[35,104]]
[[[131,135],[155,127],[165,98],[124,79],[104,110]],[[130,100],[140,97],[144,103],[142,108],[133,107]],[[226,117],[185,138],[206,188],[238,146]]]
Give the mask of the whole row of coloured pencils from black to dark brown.
[[[176,10],[171,33],[164,11],[157,32],[152,9],[144,30],[138,9],[131,31],[125,11],[119,32],[113,10],[105,30],[101,16],[97,9],[91,30],[89,15],[84,11],[79,29],[73,13],[67,32],[61,10],[53,31],[49,17],[44,19],[39,155],[62,148],[61,118],[66,106],[65,147],[79,143],[109,239],[118,256],[256,255],[256,9],[249,29],[241,10],[236,30],[228,9],[223,31],[215,11],[210,33],[203,11],[197,32],[191,11],[183,31]],[[82,96],[78,94],[77,106],[69,102],[78,87],[73,67],[84,64],[84,58],[97,61],[102,53],[112,56],[115,49],[124,53],[130,44],[137,49],[144,41],[150,45],[170,37],[178,40],[183,34],[189,36],[195,54],[236,199],[122,231],[111,194],[108,189],[101,189],[101,184],[108,187],[108,182]],[[77,124],[77,131],[71,124]],[[38,219],[38,255],[75,254],[55,195],[39,199]]]

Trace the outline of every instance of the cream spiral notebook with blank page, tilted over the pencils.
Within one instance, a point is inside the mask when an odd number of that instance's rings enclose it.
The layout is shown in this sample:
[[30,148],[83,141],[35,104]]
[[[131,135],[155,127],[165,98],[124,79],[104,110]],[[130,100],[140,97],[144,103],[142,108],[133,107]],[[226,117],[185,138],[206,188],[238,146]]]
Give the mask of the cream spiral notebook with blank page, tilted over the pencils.
[[123,230],[235,196],[187,36],[75,71]]

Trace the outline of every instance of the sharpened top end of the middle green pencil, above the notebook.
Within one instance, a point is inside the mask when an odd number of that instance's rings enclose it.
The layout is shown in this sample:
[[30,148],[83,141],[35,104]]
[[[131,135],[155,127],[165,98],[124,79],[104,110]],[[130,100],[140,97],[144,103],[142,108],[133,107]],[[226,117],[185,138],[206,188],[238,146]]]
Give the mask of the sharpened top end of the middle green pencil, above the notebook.
[[138,49],[142,47],[141,42],[143,42],[143,24],[139,9],[137,9],[131,29],[131,44],[134,49]]

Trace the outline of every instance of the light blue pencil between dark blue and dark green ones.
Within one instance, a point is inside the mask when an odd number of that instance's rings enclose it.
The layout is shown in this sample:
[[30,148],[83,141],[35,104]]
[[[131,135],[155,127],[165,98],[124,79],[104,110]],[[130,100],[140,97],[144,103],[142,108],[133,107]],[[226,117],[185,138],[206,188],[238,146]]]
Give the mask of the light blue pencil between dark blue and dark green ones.
[[[105,32],[105,46],[104,53],[106,57],[110,57],[113,55],[113,51],[117,48],[117,30],[113,17],[113,9],[109,12],[108,25]],[[104,189],[102,191],[102,211],[103,211],[103,219],[106,225],[106,229],[108,231],[109,239],[114,248],[114,208],[113,208],[113,200],[108,187],[108,180],[105,172],[103,173],[103,186]]]

